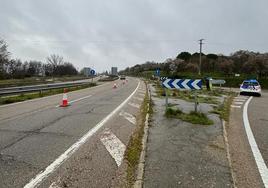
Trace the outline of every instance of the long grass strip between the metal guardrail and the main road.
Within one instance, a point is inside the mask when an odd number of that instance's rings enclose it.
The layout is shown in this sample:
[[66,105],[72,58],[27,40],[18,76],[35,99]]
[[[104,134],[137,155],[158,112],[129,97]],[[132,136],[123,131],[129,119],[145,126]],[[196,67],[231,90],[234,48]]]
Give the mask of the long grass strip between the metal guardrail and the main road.
[[[81,85],[81,86],[68,87],[68,91],[75,91],[75,90],[85,89],[85,88],[94,87],[94,86],[96,86],[96,83],[89,83],[89,84],[85,84],[85,85]],[[42,91],[42,92],[35,92],[35,93],[20,94],[20,95],[16,95],[16,96],[0,97],[0,105],[11,104],[11,103],[15,103],[15,102],[22,102],[25,100],[41,98],[41,97],[46,97],[46,96],[50,96],[50,95],[56,95],[59,93],[63,93],[63,88],[51,89],[51,90]]]

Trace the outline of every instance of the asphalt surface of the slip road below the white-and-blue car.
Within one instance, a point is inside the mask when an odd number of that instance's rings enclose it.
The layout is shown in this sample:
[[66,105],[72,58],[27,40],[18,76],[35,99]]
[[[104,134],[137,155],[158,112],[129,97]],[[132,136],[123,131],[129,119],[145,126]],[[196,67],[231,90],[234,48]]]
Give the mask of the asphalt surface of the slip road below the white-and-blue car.
[[[251,101],[250,99],[250,96],[239,95],[234,98],[231,105],[230,121],[227,126],[230,157],[237,187],[264,187],[262,178],[266,175],[262,173],[260,166],[263,169],[266,167],[260,162],[259,157],[256,158],[258,153],[256,148],[259,149],[267,166],[268,92],[263,91],[262,97],[252,97]],[[249,124],[246,122],[247,118]],[[249,136],[249,128],[254,138]],[[251,146],[254,141],[256,141],[257,147],[255,144]],[[259,166],[257,166],[256,161],[258,161]]]

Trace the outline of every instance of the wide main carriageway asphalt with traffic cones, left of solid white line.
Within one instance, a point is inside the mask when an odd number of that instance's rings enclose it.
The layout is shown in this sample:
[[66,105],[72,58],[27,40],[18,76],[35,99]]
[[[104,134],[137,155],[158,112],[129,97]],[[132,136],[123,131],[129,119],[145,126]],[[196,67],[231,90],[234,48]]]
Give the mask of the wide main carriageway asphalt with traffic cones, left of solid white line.
[[[58,107],[62,95],[0,107],[0,187],[23,187],[27,184],[128,98],[137,88],[138,82],[137,79],[129,79],[127,84],[123,84],[118,80],[117,89],[113,89],[114,82],[110,82],[95,88],[71,92],[68,99],[72,104],[67,108]],[[136,99],[132,102],[140,104],[141,100]],[[132,110],[131,113],[135,114],[137,110]],[[117,126],[129,124],[126,118],[118,121],[120,123],[117,122]],[[111,127],[113,125],[111,122],[108,124]],[[125,144],[132,129],[131,126],[119,129],[121,135],[127,132],[126,138],[122,138]],[[100,140],[96,139],[96,142]],[[91,148],[96,150],[96,145],[93,144],[84,151],[94,151]],[[105,149],[103,145],[98,148]],[[80,156],[85,155],[85,152],[79,152]],[[110,156],[107,157],[107,160],[111,159]],[[95,157],[95,160],[102,165],[107,162],[102,156]],[[112,164],[116,163],[113,161]],[[100,176],[95,176],[92,182],[103,180],[102,173],[97,174]],[[97,185],[95,184],[96,187]]]

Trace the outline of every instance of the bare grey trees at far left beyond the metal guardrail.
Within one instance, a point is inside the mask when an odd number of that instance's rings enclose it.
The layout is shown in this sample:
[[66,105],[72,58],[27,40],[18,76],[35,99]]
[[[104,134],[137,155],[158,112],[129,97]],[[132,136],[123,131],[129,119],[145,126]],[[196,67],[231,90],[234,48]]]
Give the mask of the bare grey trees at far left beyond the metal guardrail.
[[7,47],[6,42],[0,40],[0,79],[78,74],[74,65],[65,61],[60,55],[52,54],[46,58],[46,62],[36,60],[22,62],[20,59],[11,59]]

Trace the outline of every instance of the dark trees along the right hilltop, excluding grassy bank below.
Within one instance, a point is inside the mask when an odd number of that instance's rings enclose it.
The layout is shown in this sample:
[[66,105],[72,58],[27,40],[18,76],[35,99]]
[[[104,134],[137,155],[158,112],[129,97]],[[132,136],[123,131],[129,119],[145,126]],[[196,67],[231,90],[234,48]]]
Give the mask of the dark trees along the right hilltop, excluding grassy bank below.
[[[229,56],[221,54],[202,54],[202,73],[220,73],[227,76],[234,74],[255,75],[258,78],[268,77],[268,53],[240,50]],[[128,67],[121,74],[138,75],[144,71],[155,71],[160,68],[167,75],[180,73],[198,73],[199,53],[181,52],[176,58],[164,62],[147,61],[141,65]]]

